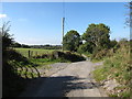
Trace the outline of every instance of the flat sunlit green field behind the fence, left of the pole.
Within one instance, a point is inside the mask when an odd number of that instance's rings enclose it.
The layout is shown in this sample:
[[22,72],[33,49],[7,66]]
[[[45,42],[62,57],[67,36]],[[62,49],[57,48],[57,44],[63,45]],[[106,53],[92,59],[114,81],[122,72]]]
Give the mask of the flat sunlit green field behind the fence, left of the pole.
[[14,48],[14,50],[21,53],[25,57],[29,57],[29,51],[32,53],[32,56],[50,54],[54,51],[61,51],[61,50],[42,50],[42,48]]

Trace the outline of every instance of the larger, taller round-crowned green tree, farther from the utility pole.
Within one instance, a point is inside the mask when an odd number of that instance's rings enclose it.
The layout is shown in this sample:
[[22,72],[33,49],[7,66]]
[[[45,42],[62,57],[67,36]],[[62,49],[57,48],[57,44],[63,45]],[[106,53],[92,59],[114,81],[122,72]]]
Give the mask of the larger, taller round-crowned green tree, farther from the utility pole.
[[[86,41],[87,45],[90,45],[89,48],[108,48],[110,44],[110,29],[109,26],[100,24],[90,24],[86,32],[82,34],[82,40]],[[90,51],[90,50],[89,50]]]

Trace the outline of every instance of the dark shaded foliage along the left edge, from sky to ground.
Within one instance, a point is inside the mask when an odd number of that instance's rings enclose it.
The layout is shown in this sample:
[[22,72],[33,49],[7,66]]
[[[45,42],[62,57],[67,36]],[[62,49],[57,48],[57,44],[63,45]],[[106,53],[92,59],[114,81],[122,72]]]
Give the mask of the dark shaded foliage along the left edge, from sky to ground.
[[18,74],[18,67],[31,63],[21,54],[11,50],[13,37],[9,34],[9,22],[0,28],[2,34],[2,97],[14,97],[23,90],[26,81]]

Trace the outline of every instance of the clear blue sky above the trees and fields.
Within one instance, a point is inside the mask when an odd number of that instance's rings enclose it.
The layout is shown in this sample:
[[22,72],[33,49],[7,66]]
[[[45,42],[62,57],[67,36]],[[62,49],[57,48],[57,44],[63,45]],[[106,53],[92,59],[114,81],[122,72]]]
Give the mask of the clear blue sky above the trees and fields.
[[76,30],[81,35],[91,23],[105,23],[110,38],[130,38],[124,28],[129,10],[127,2],[3,2],[0,19],[11,21],[10,34],[16,42],[29,45],[62,44],[62,18],[65,34]]

